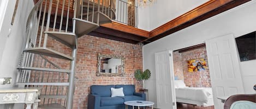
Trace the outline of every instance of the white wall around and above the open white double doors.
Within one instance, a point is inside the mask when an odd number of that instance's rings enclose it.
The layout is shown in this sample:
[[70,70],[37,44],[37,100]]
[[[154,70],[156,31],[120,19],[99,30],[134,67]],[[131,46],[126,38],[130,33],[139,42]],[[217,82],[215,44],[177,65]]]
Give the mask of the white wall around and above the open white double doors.
[[[248,2],[143,46],[144,69],[150,69],[152,72],[151,78],[145,84],[150,94],[149,100],[157,101],[154,53],[189,47],[227,34],[239,37],[251,33],[256,30],[255,5],[256,1]],[[245,92],[255,93],[253,85],[256,84],[256,60],[240,62],[240,65]]]

